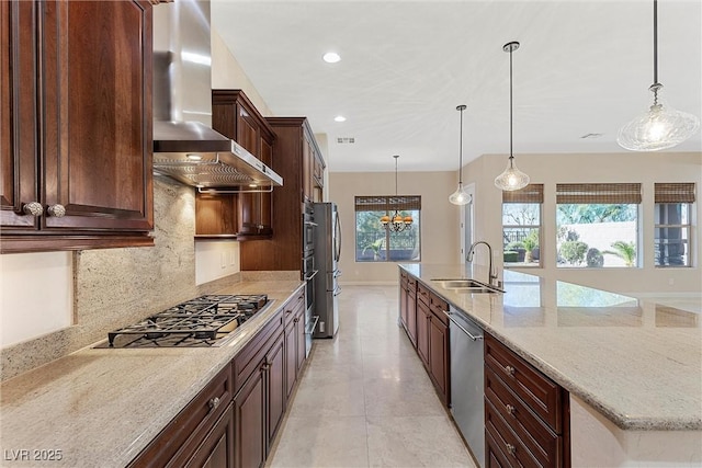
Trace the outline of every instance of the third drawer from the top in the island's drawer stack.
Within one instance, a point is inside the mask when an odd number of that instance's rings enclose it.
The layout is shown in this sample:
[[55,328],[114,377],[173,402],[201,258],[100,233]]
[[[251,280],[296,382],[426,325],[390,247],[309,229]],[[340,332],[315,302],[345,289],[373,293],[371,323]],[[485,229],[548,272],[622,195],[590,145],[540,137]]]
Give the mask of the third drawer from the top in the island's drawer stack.
[[521,443],[517,434],[502,419],[492,403],[485,399],[485,433],[491,438],[494,449],[499,450],[507,466],[541,468],[543,465],[536,460],[526,447]]

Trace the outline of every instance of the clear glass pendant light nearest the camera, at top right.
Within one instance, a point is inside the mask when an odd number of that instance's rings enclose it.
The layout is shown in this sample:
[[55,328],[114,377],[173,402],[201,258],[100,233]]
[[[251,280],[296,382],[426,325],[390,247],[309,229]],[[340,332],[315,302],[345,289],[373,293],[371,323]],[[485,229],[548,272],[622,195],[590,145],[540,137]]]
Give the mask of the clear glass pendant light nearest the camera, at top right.
[[654,83],[648,87],[654,93],[654,103],[619,130],[619,146],[632,151],[658,151],[678,146],[700,128],[697,116],[659,102],[661,89],[663,84],[658,82],[658,1],[654,0]]

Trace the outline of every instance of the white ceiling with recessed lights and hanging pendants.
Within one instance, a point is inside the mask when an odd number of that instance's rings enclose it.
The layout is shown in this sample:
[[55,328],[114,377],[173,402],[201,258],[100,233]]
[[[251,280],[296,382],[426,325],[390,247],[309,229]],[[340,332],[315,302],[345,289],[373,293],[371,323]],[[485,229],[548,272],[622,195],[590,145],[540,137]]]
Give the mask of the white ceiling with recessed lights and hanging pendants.
[[[212,0],[212,25],[275,115],[327,134],[331,171],[393,171],[396,153],[400,171],[457,170],[458,104],[464,163],[509,155],[510,41],[518,161],[623,151],[619,127],[653,99],[652,0]],[[700,0],[658,2],[658,78],[702,116]],[[675,150],[702,151],[701,134]]]

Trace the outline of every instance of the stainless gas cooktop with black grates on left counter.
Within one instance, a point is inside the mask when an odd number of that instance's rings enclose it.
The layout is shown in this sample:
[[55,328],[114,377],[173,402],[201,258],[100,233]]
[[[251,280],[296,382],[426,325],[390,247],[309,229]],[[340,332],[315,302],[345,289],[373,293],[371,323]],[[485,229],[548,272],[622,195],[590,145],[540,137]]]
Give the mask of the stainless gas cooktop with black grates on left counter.
[[196,297],[107,333],[98,347],[216,346],[268,304],[264,294]]

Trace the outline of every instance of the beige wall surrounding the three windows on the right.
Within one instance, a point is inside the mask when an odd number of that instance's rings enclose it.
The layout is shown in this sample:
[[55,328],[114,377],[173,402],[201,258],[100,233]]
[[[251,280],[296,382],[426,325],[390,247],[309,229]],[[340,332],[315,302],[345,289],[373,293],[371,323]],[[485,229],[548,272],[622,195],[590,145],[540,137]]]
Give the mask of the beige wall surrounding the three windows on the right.
[[[702,246],[702,153],[618,152],[601,155],[518,155],[519,168],[532,183],[544,184],[543,267],[546,277],[592,286],[607,290],[647,294],[679,294],[702,292],[700,246]],[[486,155],[465,167],[464,181],[475,183],[475,239],[501,246],[501,192],[494,179],[505,169],[506,156]],[[641,182],[642,206],[639,239],[643,258],[638,269],[556,269],[556,183]],[[654,267],[654,182],[695,182],[698,202],[693,214],[693,267]],[[496,258],[502,264],[501,255]],[[534,272],[533,269],[525,269]]]

